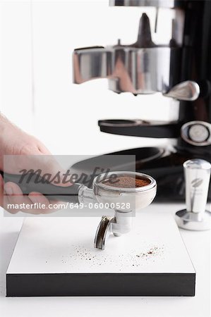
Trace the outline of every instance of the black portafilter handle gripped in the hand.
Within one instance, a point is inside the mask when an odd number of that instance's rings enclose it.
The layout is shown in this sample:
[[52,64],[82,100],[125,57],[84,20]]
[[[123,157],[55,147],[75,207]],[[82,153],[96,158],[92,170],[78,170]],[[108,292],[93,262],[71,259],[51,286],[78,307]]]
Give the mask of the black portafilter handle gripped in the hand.
[[4,183],[14,182],[16,183],[23,194],[28,195],[30,192],[39,192],[44,196],[52,200],[68,201],[74,204],[78,204],[78,192],[81,184],[74,183],[71,186],[57,186],[53,185],[48,180],[42,178],[42,176],[36,173],[27,173],[21,175],[4,173],[0,170]]

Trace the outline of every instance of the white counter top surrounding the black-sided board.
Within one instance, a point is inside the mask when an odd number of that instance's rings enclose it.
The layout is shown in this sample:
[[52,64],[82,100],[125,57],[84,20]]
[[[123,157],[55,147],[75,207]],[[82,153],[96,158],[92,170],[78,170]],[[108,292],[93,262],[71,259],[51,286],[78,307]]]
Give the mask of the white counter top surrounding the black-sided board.
[[[179,204],[152,204],[157,212],[175,213]],[[210,232],[181,230],[196,271],[195,297],[5,297],[6,269],[23,218],[0,218],[0,311],[1,316],[210,316]]]

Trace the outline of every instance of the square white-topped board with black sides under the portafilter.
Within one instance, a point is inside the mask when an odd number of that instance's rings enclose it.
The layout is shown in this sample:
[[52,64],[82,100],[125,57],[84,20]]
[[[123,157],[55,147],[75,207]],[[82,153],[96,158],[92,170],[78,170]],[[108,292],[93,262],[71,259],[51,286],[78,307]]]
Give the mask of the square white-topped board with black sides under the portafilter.
[[171,214],[147,207],[103,251],[93,248],[99,220],[26,218],[7,296],[194,296],[195,270]]

